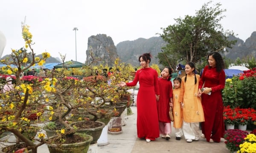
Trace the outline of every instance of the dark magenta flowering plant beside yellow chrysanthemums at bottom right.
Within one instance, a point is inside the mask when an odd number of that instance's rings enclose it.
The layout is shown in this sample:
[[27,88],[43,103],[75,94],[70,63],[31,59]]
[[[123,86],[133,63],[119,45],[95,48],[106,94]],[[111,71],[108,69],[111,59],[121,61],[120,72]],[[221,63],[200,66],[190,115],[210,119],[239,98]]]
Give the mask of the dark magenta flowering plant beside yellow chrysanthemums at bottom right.
[[239,150],[239,145],[242,144],[248,132],[239,129],[226,130],[224,133],[225,144],[230,152]]

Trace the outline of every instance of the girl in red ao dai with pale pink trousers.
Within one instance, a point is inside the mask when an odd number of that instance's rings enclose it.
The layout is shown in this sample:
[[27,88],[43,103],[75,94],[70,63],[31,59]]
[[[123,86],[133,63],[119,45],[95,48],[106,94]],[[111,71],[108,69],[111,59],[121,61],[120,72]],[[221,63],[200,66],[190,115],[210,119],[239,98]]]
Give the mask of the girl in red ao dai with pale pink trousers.
[[158,78],[158,85],[160,96],[157,97],[157,112],[159,120],[159,133],[162,134],[162,138],[169,140],[172,130],[171,119],[169,117],[170,107],[172,108],[172,69],[164,68],[161,72],[161,76]]

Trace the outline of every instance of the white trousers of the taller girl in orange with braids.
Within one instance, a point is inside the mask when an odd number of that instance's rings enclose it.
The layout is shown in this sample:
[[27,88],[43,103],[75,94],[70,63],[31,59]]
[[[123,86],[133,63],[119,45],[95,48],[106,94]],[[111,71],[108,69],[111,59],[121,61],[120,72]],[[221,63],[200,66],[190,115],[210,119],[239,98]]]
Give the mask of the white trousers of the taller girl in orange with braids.
[[199,136],[199,122],[187,123],[183,122],[183,133],[185,139],[195,139]]

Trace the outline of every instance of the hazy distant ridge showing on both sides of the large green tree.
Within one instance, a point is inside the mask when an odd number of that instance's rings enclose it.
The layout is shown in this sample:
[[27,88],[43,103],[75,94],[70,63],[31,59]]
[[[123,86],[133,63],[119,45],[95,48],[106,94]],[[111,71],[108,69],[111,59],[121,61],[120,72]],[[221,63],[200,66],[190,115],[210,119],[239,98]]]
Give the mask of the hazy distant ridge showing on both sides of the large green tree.
[[[245,42],[234,36],[230,36],[229,40],[237,40],[237,42],[235,45],[232,45],[232,48],[226,48],[226,58],[232,60],[236,60],[237,57],[240,59],[252,56],[256,58],[256,31],[254,31]],[[155,57],[161,52],[161,48],[164,45],[166,45],[166,42],[163,41],[161,37],[151,37],[149,39],[138,38],[133,41],[119,42],[116,45],[116,49],[117,55],[122,62],[138,66],[140,65],[138,61],[139,56],[148,52],[154,56],[150,63],[158,64],[158,59]]]

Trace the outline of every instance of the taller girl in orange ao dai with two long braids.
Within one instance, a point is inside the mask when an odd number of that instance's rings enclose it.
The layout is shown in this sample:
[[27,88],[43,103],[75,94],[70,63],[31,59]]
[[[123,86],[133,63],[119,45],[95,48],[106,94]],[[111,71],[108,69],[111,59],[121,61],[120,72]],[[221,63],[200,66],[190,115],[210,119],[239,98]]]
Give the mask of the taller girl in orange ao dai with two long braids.
[[183,133],[186,142],[199,139],[199,122],[204,122],[204,111],[201,96],[198,96],[200,75],[195,74],[195,65],[185,65],[186,76],[182,77],[179,102],[183,109]]

